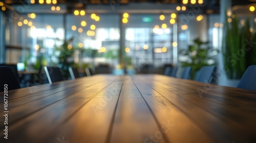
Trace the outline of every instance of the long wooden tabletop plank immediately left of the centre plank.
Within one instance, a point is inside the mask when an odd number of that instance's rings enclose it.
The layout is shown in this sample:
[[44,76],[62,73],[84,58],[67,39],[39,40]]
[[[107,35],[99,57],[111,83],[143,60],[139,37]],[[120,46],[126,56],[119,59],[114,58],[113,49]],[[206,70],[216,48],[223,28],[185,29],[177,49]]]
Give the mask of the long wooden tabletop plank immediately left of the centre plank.
[[[49,133],[47,142],[65,137],[70,142],[106,142],[122,87],[122,77],[81,106],[61,127]],[[55,134],[57,132],[57,134]]]

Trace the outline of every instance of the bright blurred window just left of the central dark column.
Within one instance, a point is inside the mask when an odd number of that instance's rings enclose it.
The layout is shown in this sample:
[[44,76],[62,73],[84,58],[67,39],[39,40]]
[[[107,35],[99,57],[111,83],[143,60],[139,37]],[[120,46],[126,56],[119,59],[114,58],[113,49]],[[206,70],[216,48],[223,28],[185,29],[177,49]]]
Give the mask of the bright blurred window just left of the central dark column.
[[[93,18],[93,15],[99,17]],[[120,29],[119,14],[86,13],[84,16],[67,15],[67,39],[78,47],[75,63],[117,64]]]

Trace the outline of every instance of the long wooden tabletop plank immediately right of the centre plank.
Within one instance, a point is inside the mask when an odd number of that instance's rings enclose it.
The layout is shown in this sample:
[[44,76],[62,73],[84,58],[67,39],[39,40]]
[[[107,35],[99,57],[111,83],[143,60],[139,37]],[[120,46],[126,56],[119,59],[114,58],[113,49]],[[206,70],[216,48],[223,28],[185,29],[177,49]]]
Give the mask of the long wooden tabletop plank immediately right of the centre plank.
[[182,109],[169,102],[155,88],[152,89],[137,76],[133,81],[161,123],[161,133],[167,136],[169,142],[214,142]]

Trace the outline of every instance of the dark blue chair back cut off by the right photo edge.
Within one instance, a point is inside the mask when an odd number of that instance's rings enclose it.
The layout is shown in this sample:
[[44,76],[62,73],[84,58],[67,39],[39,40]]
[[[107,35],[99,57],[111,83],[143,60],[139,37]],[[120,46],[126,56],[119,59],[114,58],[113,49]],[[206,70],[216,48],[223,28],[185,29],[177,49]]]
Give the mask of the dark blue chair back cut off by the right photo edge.
[[256,65],[251,65],[246,69],[238,88],[256,90]]

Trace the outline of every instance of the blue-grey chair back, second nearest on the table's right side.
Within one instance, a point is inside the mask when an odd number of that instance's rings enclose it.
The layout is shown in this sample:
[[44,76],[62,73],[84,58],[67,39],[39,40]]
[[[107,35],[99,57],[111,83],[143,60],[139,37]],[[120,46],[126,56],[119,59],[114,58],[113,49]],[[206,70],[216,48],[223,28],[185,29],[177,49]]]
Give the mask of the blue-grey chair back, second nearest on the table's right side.
[[204,82],[204,83],[212,83],[212,77],[214,76],[214,73],[216,71],[215,65],[209,65],[209,66],[203,66],[199,70],[198,78],[196,81]]

